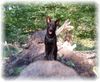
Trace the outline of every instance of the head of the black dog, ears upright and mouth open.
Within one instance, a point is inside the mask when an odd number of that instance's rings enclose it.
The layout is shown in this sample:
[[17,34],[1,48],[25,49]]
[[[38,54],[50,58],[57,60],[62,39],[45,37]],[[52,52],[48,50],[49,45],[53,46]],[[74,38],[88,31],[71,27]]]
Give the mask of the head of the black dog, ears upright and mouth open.
[[47,34],[49,36],[53,36],[55,34],[56,27],[59,26],[59,19],[57,19],[56,21],[52,21],[51,18],[48,16],[46,18],[46,22],[47,22]]

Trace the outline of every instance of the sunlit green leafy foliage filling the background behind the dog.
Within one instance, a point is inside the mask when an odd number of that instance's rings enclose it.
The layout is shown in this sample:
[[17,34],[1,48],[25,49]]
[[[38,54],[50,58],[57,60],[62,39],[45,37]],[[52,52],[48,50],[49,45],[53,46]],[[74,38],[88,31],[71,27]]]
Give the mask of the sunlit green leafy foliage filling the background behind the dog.
[[74,39],[96,38],[95,4],[12,4],[4,5],[5,40],[24,43],[31,31],[45,28],[46,16],[60,18],[61,25],[69,19],[75,27]]

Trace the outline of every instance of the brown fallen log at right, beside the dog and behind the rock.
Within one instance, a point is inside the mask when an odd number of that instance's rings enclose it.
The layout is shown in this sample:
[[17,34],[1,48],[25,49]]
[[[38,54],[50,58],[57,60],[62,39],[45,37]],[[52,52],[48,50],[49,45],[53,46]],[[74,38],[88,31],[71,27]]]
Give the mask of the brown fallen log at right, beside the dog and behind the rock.
[[59,57],[64,59],[63,63],[72,61],[72,63],[74,64],[74,69],[80,75],[85,77],[94,77],[96,76],[95,72],[93,71],[93,68],[96,66],[96,53],[92,51],[90,52],[91,53],[61,49],[59,51]]

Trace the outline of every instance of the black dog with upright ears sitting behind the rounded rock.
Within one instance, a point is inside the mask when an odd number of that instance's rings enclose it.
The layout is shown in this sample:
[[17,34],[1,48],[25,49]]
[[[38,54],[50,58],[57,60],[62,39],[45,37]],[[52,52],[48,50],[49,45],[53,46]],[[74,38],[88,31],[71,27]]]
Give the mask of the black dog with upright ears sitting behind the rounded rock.
[[45,52],[47,60],[57,59],[57,38],[56,38],[56,27],[59,25],[59,20],[51,21],[50,17],[46,18],[47,32],[45,35]]

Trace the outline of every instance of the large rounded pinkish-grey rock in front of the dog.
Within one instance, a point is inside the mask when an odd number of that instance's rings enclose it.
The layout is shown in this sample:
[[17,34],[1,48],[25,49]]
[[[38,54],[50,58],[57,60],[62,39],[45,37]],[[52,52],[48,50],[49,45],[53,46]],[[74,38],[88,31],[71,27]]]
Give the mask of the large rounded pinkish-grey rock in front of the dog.
[[58,61],[40,60],[31,63],[19,75],[23,78],[74,78],[78,77],[76,71]]

